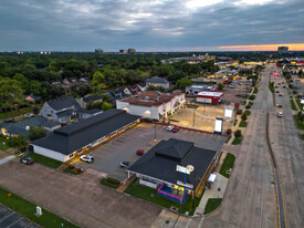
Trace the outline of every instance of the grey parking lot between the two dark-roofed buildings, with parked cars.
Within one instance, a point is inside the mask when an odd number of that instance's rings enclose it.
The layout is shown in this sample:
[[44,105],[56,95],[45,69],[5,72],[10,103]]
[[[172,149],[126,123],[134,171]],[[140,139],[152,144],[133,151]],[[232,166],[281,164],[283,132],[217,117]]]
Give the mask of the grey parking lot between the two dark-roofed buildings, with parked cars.
[[96,148],[91,155],[95,160],[93,164],[86,164],[81,160],[73,163],[76,167],[93,168],[108,174],[109,177],[119,179],[123,182],[127,178],[126,170],[119,167],[122,160],[128,160],[134,163],[139,158],[136,155],[136,151],[144,148],[148,151],[155,145],[154,138],[168,139],[170,137],[193,142],[197,146],[201,146],[209,149],[219,149],[226,142],[224,136],[180,129],[178,133],[171,133],[166,131],[166,126],[141,123],[125,134],[114,138],[107,144]]

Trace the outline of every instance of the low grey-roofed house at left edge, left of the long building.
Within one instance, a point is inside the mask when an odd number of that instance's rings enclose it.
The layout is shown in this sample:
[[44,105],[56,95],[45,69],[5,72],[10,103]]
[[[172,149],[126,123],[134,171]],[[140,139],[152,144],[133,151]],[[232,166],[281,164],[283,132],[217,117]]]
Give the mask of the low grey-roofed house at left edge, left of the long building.
[[36,126],[44,128],[46,132],[53,132],[61,127],[61,124],[56,121],[50,121],[43,116],[35,116],[31,118],[25,118],[17,123],[1,123],[1,134],[15,136],[22,135],[25,138],[29,138],[29,129],[31,126]]

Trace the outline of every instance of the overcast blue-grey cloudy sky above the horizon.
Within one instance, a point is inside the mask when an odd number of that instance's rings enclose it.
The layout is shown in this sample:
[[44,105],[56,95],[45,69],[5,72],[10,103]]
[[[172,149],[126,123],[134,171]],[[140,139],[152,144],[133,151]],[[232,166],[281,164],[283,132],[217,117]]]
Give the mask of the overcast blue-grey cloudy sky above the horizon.
[[304,0],[0,2],[0,51],[276,50],[277,44],[304,50]]

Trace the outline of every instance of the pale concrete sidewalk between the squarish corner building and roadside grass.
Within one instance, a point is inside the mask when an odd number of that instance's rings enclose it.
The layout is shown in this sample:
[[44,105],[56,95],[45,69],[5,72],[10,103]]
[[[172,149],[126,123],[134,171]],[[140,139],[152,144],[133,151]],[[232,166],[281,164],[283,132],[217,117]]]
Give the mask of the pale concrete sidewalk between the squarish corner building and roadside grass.
[[[205,207],[209,198],[223,198],[224,190],[228,184],[228,178],[220,175],[219,173],[213,173],[217,175],[217,178],[213,184],[211,184],[211,188],[207,188],[203,193],[203,196],[199,203],[199,206],[196,209],[195,215],[203,215]],[[220,191],[218,191],[218,187],[220,187]]]

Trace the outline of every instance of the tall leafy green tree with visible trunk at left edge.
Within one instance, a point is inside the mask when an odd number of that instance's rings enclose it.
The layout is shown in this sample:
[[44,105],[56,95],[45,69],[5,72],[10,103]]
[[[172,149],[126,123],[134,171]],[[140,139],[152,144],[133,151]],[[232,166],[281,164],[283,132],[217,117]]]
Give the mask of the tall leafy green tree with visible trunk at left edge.
[[0,81],[0,101],[3,105],[10,106],[13,121],[13,107],[17,106],[18,103],[24,101],[22,94],[23,91],[15,80],[6,77]]

